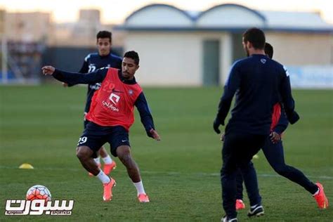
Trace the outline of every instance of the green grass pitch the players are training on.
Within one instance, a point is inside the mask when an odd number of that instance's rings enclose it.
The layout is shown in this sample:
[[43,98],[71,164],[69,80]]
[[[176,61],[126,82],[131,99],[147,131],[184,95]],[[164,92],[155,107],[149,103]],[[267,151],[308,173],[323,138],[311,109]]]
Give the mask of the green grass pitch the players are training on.
[[[219,221],[222,144],[212,122],[222,88],[144,91],[162,141],[145,135],[137,112],[130,140],[151,202],[138,203],[115,159],[117,186],[105,203],[100,181],[75,156],[86,87],[0,86],[0,221]],[[333,91],[293,93],[301,120],[283,138],[286,162],[320,181],[333,204]],[[34,169],[18,169],[22,163]],[[254,164],[266,215],[252,221],[333,221],[333,206],[319,210],[306,190],[275,174],[262,152]],[[72,216],[5,216],[6,200],[25,198],[35,184],[46,185],[53,200],[74,200]],[[249,221],[246,214],[239,212],[240,221]]]

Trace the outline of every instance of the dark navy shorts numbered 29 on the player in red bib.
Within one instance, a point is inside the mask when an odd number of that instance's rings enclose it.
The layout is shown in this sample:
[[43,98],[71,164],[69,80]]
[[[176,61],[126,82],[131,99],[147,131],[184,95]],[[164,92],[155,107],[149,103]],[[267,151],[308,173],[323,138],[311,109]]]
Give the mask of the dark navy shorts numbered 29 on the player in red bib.
[[86,121],[84,132],[79,138],[77,146],[85,145],[93,150],[93,157],[96,152],[105,144],[110,144],[111,154],[117,157],[117,148],[120,145],[129,145],[129,132],[123,126],[100,126],[93,122]]

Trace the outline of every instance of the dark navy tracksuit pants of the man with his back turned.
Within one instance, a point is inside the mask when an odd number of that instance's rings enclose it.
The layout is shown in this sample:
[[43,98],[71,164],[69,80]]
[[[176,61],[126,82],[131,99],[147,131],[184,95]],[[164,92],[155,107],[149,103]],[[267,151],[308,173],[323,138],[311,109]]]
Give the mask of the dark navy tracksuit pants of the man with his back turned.
[[224,137],[221,185],[223,209],[226,211],[228,218],[237,216],[235,201],[238,169],[242,171],[242,178],[244,178],[251,205],[261,204],[256,171],[251,159],[263,147],[267,137],[268,135],[253,135],[230,131]]

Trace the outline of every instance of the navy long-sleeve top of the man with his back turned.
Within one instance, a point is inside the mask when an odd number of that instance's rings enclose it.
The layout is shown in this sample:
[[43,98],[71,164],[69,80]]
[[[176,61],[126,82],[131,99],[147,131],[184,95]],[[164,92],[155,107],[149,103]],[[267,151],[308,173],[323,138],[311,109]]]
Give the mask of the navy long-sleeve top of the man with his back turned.
[[218,105],[216,118],[223,125],[235,94],[235,107],[226,131],[268,134],[273,105],[280,98],[289,122],[294,124],[299,119],[294,111],[289,74],[266,55],[255,54],[233,65]]

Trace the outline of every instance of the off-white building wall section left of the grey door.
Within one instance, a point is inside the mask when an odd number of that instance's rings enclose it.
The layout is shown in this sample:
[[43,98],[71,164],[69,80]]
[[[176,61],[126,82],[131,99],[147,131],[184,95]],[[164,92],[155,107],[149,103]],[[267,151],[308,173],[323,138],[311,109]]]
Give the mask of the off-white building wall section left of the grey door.
[[183,32],[129,32],[125,51],[137,51],[140,68],[136,79],[143,85],[200,86],[200,36]]

